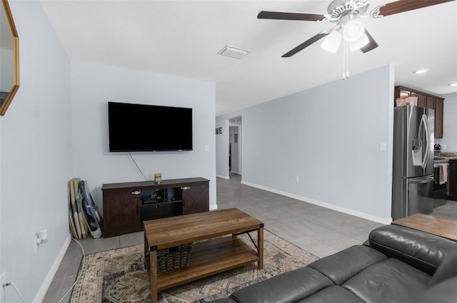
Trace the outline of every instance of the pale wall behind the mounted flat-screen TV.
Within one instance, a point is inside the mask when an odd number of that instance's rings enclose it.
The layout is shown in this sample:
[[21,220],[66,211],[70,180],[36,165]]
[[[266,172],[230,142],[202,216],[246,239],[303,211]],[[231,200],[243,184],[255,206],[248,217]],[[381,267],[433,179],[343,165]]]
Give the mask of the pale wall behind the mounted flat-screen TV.
[[[193,109],[194,150],[132,153],[149,180],[202,177],[210,180],[216,207],[215,84],[91,63],[71,63],[74,177],[87,180],[99,209],[101,185],[144,180],[127,153],[109,153],[108,101]],[[160,138],[161,125],[153,134]],[[209,145],[209,151],[205,147]]]

